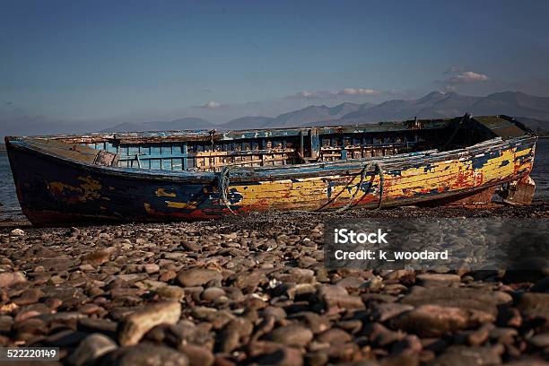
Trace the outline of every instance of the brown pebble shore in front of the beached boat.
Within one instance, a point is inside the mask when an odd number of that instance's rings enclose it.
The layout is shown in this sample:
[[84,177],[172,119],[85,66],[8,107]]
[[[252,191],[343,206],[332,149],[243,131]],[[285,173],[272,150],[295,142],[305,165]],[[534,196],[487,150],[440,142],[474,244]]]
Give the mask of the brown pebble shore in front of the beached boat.
[[4,222],[0,346],[58,346],[72,365],[548,364],[547,273],[324,267],[334,217],[463,216],[546,218],[549,203]]

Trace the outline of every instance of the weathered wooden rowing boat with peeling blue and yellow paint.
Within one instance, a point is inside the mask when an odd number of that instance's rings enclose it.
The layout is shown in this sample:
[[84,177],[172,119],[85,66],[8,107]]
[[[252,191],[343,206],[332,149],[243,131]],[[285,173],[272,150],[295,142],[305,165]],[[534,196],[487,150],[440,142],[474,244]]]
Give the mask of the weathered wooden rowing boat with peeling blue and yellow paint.
[[34,224],[52,225],[473,203],[509,183],[508,200],[527,203],[536,135],[506,116],[466,115],[362,126],[6,137],[5,144],[23,213]]

